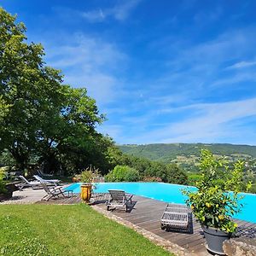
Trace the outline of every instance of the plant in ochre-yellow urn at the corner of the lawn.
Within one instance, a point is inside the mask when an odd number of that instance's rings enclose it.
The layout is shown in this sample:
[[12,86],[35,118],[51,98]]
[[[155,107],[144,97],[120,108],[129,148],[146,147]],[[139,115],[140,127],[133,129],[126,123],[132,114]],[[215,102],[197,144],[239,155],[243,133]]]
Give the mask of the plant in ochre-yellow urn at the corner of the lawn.
[[96,188],[96,186],[92,184],[96,177],[98,177],[98,169],[91,168],[91,166],[80,174],[80,180],[83,183],[81,185],[81,199],[85,203],[90,201],[92,189]]

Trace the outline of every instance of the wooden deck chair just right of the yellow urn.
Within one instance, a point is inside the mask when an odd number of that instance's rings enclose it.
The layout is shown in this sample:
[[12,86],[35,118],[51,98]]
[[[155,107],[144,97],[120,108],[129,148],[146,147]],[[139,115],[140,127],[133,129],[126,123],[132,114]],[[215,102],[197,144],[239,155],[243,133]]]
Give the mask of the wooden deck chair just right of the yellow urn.
[[126,194],[124,190],[118,189],[109,189],[110,199],[106,202],[107,210],[109,211],[111,208],[125,208],[125,212],[128,210],[128,203],[131,202],[131,198],[133,195]]

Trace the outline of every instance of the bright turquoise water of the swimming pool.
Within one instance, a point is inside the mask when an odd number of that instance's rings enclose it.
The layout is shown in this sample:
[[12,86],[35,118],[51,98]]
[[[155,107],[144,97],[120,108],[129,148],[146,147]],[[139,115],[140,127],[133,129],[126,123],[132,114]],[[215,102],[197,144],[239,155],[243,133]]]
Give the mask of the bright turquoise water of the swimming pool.
[[[72,189],[74,193],[80,193],[81,183],[73,183],[68,186],[67,189]],[[181,189],[186,189],[188,186],[170,184],[170,183],[96,183],[97,193],[107,193],[108,189],[123,189],[127,193],[133,195],[142,195],[155,200],[172,202],[172,203],[184,203],[186,197],[182,195]],[[195,189],[189,187],[189,189]],[[234,218],[250,221],[256,223],[256,195],[241,193],[244,198],[241,203],[244,207],[241,212]]]

